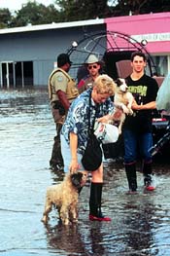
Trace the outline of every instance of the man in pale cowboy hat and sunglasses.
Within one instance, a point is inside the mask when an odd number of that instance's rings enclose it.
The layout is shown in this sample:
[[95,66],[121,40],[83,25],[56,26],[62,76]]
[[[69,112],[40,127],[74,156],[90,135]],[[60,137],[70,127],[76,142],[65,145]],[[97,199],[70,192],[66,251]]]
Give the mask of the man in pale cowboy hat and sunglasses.
[[85,67],[88,71],[88,75],[83,78],[78,84],[78,90],[80,93],[88,88],[93,87],[94,80],[100,75],[101,61],[96,55],[89,55],[85,62]]

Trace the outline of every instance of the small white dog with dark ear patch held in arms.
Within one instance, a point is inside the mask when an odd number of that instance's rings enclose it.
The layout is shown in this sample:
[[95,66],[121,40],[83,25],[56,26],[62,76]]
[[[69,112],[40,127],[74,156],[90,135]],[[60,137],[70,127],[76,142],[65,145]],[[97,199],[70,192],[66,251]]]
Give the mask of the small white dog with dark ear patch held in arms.
[[122,124],[125,120],[125,114],[126,115],[132,115],[133,110],[131,108],[132,103],[133,103],[133,95],[130,91],[128,91],[128,87],[125,83],[125,79],[123,78],[118,78],[116,81],[117,88],[115,91],[115,96],[114,96],[114,104],[116,108],[121,108],[123,113],[120,117],[119,120],[119,134],[121,133],[121,128]]

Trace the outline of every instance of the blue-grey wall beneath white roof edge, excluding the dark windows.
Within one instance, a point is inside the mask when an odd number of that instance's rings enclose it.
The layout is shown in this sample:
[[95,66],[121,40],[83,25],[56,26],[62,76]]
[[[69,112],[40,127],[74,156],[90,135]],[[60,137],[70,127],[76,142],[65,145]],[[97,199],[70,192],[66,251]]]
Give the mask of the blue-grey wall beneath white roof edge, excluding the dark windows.
[[[0,62],[33,61],[34,86],[47,86],[56,56],[66,53],[85,33],[103,30],[105,24],[0,34]],[[1,81],[1,80],[0,80]]]

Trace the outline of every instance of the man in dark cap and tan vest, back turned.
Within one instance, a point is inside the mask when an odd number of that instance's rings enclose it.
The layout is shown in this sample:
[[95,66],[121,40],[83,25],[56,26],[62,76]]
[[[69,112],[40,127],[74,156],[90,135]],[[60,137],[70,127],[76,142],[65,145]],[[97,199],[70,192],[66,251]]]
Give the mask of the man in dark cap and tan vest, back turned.
[[69,55],[57,56],[57,68],[51,72],[49,78],[49,95],[51,112],[56,125],[56,136],[51,153],[51,168],[63,169],[64,163],[60,148],[60,130],[72,101],[79,95],[74,79],[68,74],[72,61]]

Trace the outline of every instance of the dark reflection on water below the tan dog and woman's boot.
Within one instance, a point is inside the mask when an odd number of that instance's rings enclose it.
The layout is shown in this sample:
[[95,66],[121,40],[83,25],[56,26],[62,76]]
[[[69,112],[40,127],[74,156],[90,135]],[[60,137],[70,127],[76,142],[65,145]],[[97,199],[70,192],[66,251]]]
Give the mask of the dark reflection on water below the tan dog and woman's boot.
[[81,224],[64,227],[46,225],[46,235],[50,248],[63,251],[63,255],[109,255],[107,234],[102,234],[101,223],[93,223],[83,233]]

